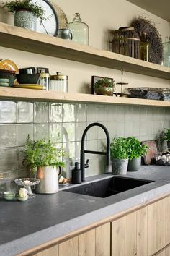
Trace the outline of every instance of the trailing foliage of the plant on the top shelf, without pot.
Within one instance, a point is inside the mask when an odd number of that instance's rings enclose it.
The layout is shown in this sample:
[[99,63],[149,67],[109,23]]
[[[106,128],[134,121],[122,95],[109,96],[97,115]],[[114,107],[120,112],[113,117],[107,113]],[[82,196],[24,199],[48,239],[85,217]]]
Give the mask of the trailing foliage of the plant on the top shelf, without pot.
[[35,14],[40,20],[49,20],[49,17],[45,17],[45,11],[42,7],[37,4],[32,4],[30,0],[22,1],[6,1],[2,4],[2,7],[7,7],[9,12],[28,11]]

